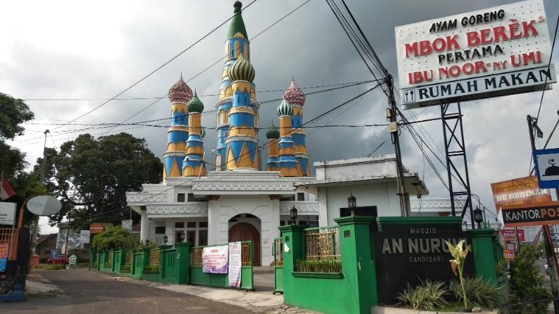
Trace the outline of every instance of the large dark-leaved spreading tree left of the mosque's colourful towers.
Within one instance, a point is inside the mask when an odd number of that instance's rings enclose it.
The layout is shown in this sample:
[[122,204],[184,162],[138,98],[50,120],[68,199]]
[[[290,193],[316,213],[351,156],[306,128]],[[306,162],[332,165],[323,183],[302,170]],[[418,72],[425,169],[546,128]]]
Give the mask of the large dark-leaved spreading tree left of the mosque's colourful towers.
[[[62,144],[58,153],[47,153],[47,164],[51,165],[45,171],[47,186],[63,204],[51,217],[52,224],[66,215],[73,225],[119,224],[128,218],[126,191],[161,181],[161,160],[147,149],[144,139],[128,133],[98,140],[82,134]],[[39,158],[36,169],[41,162]]]

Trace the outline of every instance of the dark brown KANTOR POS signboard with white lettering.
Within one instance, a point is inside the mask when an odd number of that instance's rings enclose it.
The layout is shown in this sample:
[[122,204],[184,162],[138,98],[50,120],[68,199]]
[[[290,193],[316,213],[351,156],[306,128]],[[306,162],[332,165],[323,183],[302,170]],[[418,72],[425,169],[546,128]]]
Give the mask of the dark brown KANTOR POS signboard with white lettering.
[[559,223],[559,202],[542,202],[502,207],[499,211],[504,227],[555,225]]

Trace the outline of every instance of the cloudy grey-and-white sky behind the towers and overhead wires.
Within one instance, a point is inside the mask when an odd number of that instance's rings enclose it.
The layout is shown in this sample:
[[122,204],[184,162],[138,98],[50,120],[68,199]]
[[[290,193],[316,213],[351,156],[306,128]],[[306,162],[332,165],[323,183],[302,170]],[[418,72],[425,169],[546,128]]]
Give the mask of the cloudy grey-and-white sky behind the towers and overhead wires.
[[[249,38],[284,17],[304,0],[258,0],[242,15]],[[397,77],[394,27],[430,20],[514,1],[504,0],[392,0],[347,1],[380,59]],[[245,5],[249,1],[245,0]],[[549,32],[559,14],[559,2],[544,0]],[[42,153],[45,129],[52,131],[48,147],[59,147],[80,133],[113,134],[124,130],[144,137],[157,156],[166,147],[166,128],[115,129],[94,128],[71,132],[87,126],[64,124],[101,105],[158,68],[233,13],[233,1],[10,1],[3,3],[8,13],[0,20],[0,91],[26,103],[35,112],[34,124],[27,132],[10,142],[27,153],[34,164]],[[156,98],[166,95],[180,76],[194,77],[223,57],[228,24],[192,47],[119,98]],[[285,89],[296,78],[300,87],[315,87],[370,80],[354,47],[325,1],[312,0],[302,8],[251,41],[252,64],[256,69],[256,91],[259,101],[281,97],[270,90]],[[553,58],[559,60],[556,52]],[[205,110],[215,109],[222,62],[205,70],[188,82],[196,89]],[[361,85],[307,97],[305,119],[360,94],[370,85]],[[559,87],[546,91],[539,126],[545,138],[558,118],[556,99]],[[305,89],[316,91],[317,89]],[[268,92],[266,92],[268,91]],[[528,174],[530,143],[525,123],[526,114],[537,114],[540,93],[507,96],[463,103],[463,124],[467,144],[468,167],[473,193],[494,210],[491,182],[524,177]],[[57,100],[38,100],[57,99]],[[74,124],[120,123],[136,112],[143,112],[128,122],[161,119],[169,116],[170,103],[164,98],[113,100],[87,114]],[[275,107],[266,103],[260,111],[261,126],[277,124]],[[354,105],[344,107],[317,121],[325,124],[384,124],[386,96],[381,91],[368,94]],[[440,117],[439,107],[406,112],[414,119]],[[203,126],[215,126],[215,116],[203,117]],[[57,129],[55,129],[57,128]],[[422,137],[441,159],[442,125],[431,121],[416,125]],[[110,132],[108,132],[110,131]],[[367,156],[389,137],[385,127],[321,128],[307,130],[307,147],[312,160],[333,160]],[[263,135],[263,134],[261,134]],[[261,136],[263,144],[263,136]],[[419,147],[402,130],[402,154],[405,165],[419,172],[432,196],[447,196],[448,191],[424,160]],[[543,146],[544,141],[542,141]],[[549,147],[559,146],[559,136]],[[208,130],[205,149],[215,148],[215,131]],[[390,142],[375,155],[393,152]],[[446,178],[446,170],[430,156],[437,170]],[[49,229],[41,222],[43,232]]]

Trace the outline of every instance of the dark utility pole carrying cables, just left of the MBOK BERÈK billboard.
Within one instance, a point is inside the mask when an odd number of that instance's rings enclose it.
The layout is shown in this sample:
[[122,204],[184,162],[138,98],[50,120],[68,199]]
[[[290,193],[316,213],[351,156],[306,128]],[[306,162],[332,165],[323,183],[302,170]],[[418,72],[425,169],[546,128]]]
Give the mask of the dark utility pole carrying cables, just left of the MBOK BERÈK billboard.
[[389,91],[389,104],[390,109],[387,112],[387,118],[390,120],[389,132],[392,135],[392,142],[394,143],[394,151],[396,154],[396,182],[398,184],[398,197],[400,197],[400,213],[402,217],[409,216],[409,204],[407,202],[407,193],[404,185],[404,167],[402,165],[402,152],[400,151],[400,140],[398,139],[398,121],[396,121],[396,100],[394,98],[394,84],[392,75],[386,76],[386,87]]

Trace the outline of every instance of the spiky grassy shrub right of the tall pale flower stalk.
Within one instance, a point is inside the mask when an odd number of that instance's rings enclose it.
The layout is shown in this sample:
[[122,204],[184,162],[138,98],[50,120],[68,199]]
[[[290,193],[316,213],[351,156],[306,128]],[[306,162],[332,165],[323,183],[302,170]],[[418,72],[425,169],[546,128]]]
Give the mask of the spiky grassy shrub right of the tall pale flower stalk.
[[[458,281],[452,281],[449,290],[456,296],[458,301],[462,299],[462,287]],[[468,304],[474,304],[481,308],[497,308],[502,301],[502,287],[483,278],[464,278],[464,290],[467,295]]]

